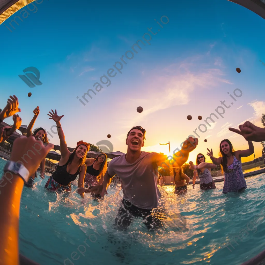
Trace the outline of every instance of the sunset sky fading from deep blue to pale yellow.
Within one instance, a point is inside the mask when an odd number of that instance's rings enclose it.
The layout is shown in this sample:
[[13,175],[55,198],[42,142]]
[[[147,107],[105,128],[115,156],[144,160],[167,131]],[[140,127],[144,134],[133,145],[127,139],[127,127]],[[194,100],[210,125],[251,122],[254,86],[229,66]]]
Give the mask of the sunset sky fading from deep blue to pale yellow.
[[[114,151],[122,152],[127,149],[127,131],[141,125],[147,130],[143,150],[167,153],[160,142],[170,141],[172,152],[214,112],[220,100],[233,101],[227,92],[239,88],[242,96],[226,109],[224,118],[201,133],[191,159],[197,152],[206,154],[206,148],[213,148],[217,155],[219,142],[225,138],[237,150],[248,147],[227,128],[247,119],[261,125],[265,67],[259,60],[265,61],[264,19],[227,0],[78,1],[74,5],[72,1],[43,0],[35,5],[38,11],[33,5],[29,5],[33,11],[23,8],[30,14],[27,18],[20,10],[0,25],[4,40],[0,44],[0,104],[4,106],[8,96],[15,94],[23,124],[30,122],[33,109],[39,106],[34,127],[49,130],[54,123],[47,113],[57,109],[65,115],[61,124],[68,146],[74,147],[81,139],[95,144],[111,134]],[[23,22],[17,19],[20,25],[12,23],[13,29],[9,23],[16,15]],[[167,16],[169,22],[162,24],[161,16]],[[152,35],[151,45],[140,45],[142,50],[126,59],[122,74],[117,72],[110,78],[111,85],[103,85],[82,105],[76,97],[93,89],[150,27],[153,32],[161,29]],[[39,69],[43,83],[33,89],[18,77],[30,66]],[[237,67],[241,73],[236,72]],[[30,98],[28,92],[32,92]],[[142,113],[136,112],[138,106],[143,107]],[[193,119],[188,121],[187,115]],[[58,136],[51,142],[59,144]],[[259,143],[255,149],[260,156]]]

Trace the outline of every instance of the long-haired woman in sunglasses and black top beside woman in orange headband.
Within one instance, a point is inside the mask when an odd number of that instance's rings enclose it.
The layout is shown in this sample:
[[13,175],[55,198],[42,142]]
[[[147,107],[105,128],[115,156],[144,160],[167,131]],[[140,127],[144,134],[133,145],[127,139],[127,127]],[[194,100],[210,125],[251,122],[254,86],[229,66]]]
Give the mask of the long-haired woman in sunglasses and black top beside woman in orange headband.
[[[86,159],[86,175],[84,180],[85,188],[91,189],[94,186],[103,183],[104,175],[107,171],[107,158],[108,157],[105,153],[101,153],[96,157],[96,159]],[[94,196],[101,198],[100,194],[96,194]]]

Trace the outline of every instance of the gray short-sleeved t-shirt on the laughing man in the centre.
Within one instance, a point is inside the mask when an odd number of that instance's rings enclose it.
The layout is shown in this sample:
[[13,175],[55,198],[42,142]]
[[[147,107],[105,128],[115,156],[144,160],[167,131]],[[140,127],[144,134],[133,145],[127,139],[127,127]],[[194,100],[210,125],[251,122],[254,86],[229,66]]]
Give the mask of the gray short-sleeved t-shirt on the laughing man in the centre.
[[[158,153],[142,151],[140,157],[132,164],[125,159],[125,154],[109,162],[108,173],[117,174],[122,182],[123,198],[142,209],[153,209],[158,206],[161,193],[157,187],[158,172],[154,161]],[[129,205],[128,205],[129,206]]]

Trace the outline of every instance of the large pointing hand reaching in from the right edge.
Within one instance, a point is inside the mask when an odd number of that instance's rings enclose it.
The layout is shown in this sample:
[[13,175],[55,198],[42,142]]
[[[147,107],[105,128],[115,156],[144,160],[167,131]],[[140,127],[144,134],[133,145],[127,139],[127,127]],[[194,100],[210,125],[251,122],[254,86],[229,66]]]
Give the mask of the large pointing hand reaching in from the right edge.
[[244,124],[239,125],[239,130],[231,127],[229,130],[242,135],[247,141],[265,141],[265,129],[255,126],[250,121],[246,121]]

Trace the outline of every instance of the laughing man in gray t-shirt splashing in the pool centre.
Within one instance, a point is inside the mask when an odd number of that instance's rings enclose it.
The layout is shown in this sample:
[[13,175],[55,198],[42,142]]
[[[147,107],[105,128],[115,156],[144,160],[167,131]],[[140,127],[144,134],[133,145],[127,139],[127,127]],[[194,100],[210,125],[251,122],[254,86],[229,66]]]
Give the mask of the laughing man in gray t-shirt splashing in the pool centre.
[[[115,224],[118,228],[127,229],[133,217],[142,217],[149,229],[160,226],[161,221],[151,215],[152,210],[158,206],[161,194],[157,187],[158,166],[180,167],[188,159],[189,152],[198,144],[197,138],[188,138],[179,152],[174,150],[174,157],[158,153],[141,151],[144,146],[145,130],[140,126],[133,127],[127,134],[127,154],[116,157],[109,162],[108,170],[104,176],[103,185],[97,185],[86,192],[101,194],[107,193],[107,187],[114,175],[118,175],[122,182],[123,199],[118,211]],[[185,147],[185,149],[184,149]]]

